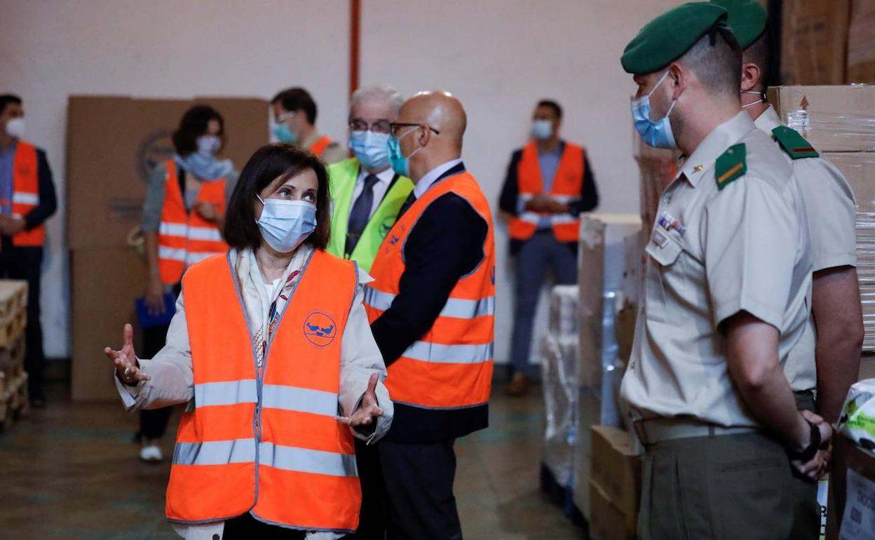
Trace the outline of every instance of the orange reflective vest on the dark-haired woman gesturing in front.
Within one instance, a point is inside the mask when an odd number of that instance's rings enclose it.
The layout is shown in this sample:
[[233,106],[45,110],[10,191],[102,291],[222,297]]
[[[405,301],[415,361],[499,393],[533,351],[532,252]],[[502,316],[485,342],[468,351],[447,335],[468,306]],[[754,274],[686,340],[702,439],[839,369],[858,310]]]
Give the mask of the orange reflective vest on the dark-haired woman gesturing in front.
[[356,529],[353,435],[335,419],[356,272],[351,261],[313,252],[259,375],[230,254],[186,271],[194,409],[179,423],[168,520],[216,522],[251,510],[293,529]]

